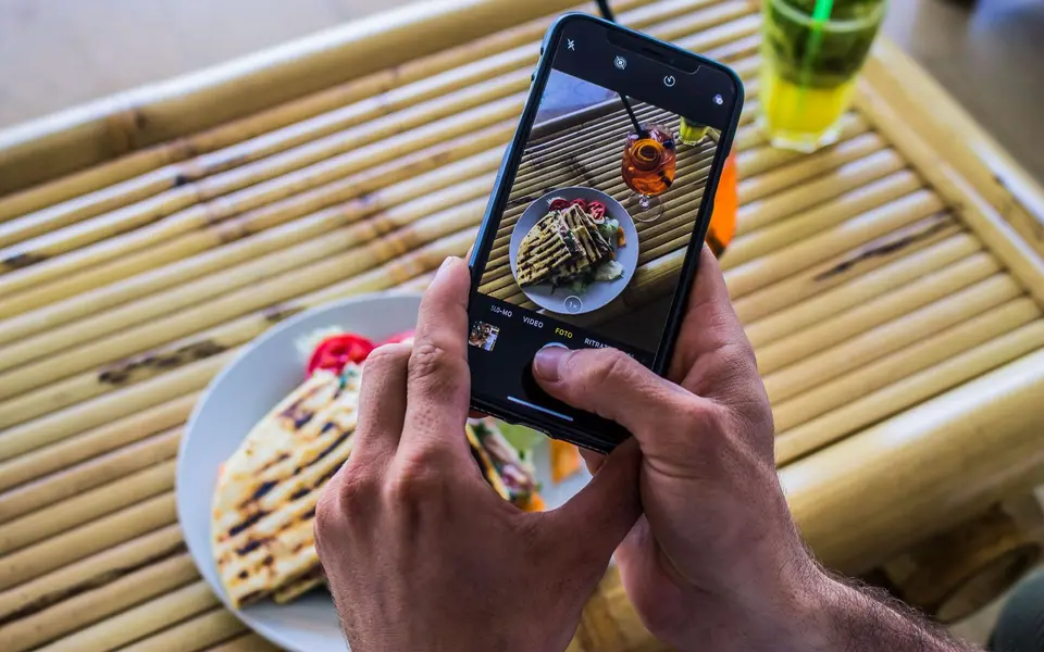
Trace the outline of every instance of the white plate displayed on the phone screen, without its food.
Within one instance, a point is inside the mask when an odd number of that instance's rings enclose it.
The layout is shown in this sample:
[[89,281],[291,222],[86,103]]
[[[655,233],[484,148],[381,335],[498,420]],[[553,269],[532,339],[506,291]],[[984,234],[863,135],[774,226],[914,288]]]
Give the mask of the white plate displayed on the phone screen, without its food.
[[559,314],[580,315],[588,313],[616,299],[626,289],[634,276],[634,271],[638,266],[638,231],[634,227],[634,220],[631,213],[623,208],[619,201],[609,197],[600,190],[594,188],[584,188],[573,186],[560,188],[548,192],[544,197],[531,203],[519,216],[511,231],[511,243],[508,247],[508,254],[511,260],[511,274],[515,278],[519,276],[519,246],[522,244],[522,238],[525,237],[537,222],[540,221],[549,210],[551,200],[556,197],[563,199],[583,199],[584,201],[600,201],[606,204],[606,213],[620,223],[623,228],[623,235],[627,240],[626,246],[617,249],[617,262],[623,265],[623,276],[616,280],[596,280],[581,294],[575,294],[567,288],[555,288],[549,283],[542,283],[522,288],[522,291],[530,301],[540,308]]

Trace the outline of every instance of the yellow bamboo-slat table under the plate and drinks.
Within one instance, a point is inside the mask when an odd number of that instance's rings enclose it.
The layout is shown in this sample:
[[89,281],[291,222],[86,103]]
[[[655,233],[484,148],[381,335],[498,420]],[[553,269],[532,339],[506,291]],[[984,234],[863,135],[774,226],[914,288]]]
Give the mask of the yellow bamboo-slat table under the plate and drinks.
[[[838,143],[766,147],[755,0],[618,0],[746,80],[722,260],[819,556],[861,573],[1041,479],[1044,193],[880,42]],[[0,649],[268,649],[183,546],[208,380],[474,238],[568,0],[445,0],[0,133]],[[591,8],[586,8],[591,9]],[[575,650],[654,650],[610,574]]]

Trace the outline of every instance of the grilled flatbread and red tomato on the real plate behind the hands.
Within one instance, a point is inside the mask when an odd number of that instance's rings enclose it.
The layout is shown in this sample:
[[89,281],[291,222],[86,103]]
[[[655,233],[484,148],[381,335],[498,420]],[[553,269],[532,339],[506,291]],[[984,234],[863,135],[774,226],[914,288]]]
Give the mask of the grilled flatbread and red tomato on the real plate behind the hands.
[[[374,347],[337,329],[304,339],[319,342],[302,363],[307,379],[258,422],[219,471],[211,548],[237,607],[290,602],[324,581],[312,537],[315,505],[351,454],[365,355]],[[531,452],[512,447],[492,419],[472,421],[465,437],[483,476],[505,500],[523,510],[543,507],[526,461]]]

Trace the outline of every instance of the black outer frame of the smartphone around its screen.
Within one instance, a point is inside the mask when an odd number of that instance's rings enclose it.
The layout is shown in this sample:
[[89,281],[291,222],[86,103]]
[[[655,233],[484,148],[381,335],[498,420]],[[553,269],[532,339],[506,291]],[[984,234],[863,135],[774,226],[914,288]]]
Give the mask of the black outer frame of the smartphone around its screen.
[[[508,197],[511,192],[511,184],[505,183],[505,180],[508,179],[513,181],[515,175],[518,174],[522,155],[525,151],[525,145],[529,140],[533,123],[536,120],[536,114],[539,110],[544,89],[547,86],[547,80],[552,70],[555,53],[557,52],[559,43],[561,42],[562,34],[566,27],[575,21],[594,23],[609,33],[624,34],[629,38],[636,38],[638,42],[644,41],[649,46],[657,48],[658,50],[667,50],[672,54],[671,61],[676,62],[679,60],[684,60],[687,66],[709,66],[720,71],[731,78],[734,86],[734,92],[732,93],[732,97],[735,98],[735,100],[732,103],[729,124],[721,130],[721,140],[719,142],[714,160],[711,163],[707,186],[704,189],[705,197],[708,197],[709,201],[704,201],[700,204],[699,213],[697,214],[694,237],[689,242],[688,250],[686,251],[685,263],[682,266],[681,278],[678,287],[675,288],[674,297],[671,301],[667,325],[663,330],[663,338],[660,341],[660,346],[657,350],[657,354],[651,367],[656,374],[663,376],[670,363],[671,355],[674,352],[674,344],[678,340],[679,331],[681,329],[682,317],[684,316],[685,309],[687,306],[688,293],[693,286],[693,281],[695,280],[696,271],[699,266],[699,256],[693,255],[693,252],[694,250],[698,252],[703,248],[704,240],[707,237],[707,229],[710,225],[710,216],[713,212],[713,198],[717,193],[718,181],[721,177],[722,170],[724,168],[725,160],[732,150],[732,143],[738,128],[739,114],[744,101],[743,82],[739,79],[739,77],[732,68],[711,59],[700,57],[699,54],[683,50],[671,43],[667,43],[638,32],[627,29],[626,27],[623,27],[617,23],[610,23],[588,14],[569,13],[558,18],[550,26],[544,38],[544,47],[540,50],[540,61],[534,73],[533,85],[530,87],[530,93],[525,101],[522,118],[519,122],[519,126],[515,129],[511,143],[508,146],[505,152],[504,161],[500,165],[500,170],[497,173],[496,181],[494,184],[493,195],[490,196],[489,203],[486,206],[482,225],[478,228],[476,246],[472,251],[471,259],[469,260],[472,276],[470,296],[474,297],[478,291],[482,267],[484,267],[487,261],[493,246],[493,240],[496,236],[496,227],[499,225],[499,218],[505,211]],[[675,66],[671,66],[669,63],[662,61],[657,63],[666,71],[676,70]],[[474,317],[474,315],[471,314],[471,309],[469,308],[469,319],[472,317]],[[472,378],[472,381],[474,383],[474,378]],[[500,401],[489,401],[480,397],[475,397],[474,392],[472,392],[471,404],[473,409],[497,418],[501,418],[509,423],[521,424],[545,432],[550,437],[563,439],[583,448],[599,452],[610,452],[613,448],[616,448],[617,444],[630,436],[630,434],[626,432],[626,430],[624,430],[621,426],[609,421],[605,421],[605,426],[600,428],[601,430],[605,430],[605,432],[595,432],[587,428],[552,421],[542,416],[538,413],[522,412],[513,408],[512,403],[506,399]]]

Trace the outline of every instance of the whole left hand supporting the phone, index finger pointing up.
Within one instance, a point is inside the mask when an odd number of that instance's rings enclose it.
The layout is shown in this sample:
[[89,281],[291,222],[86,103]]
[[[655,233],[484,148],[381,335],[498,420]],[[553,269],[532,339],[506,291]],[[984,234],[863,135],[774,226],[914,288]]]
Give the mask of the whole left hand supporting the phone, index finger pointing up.
[[564,650],[641,514],[634,442],[551,512],[486,485],[463,432],[470,285],[447,260],[412,349],[370,355],[355,450],[319,502],[315,544],[355,652]]

